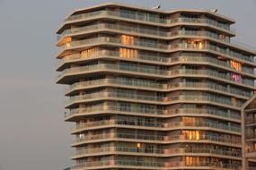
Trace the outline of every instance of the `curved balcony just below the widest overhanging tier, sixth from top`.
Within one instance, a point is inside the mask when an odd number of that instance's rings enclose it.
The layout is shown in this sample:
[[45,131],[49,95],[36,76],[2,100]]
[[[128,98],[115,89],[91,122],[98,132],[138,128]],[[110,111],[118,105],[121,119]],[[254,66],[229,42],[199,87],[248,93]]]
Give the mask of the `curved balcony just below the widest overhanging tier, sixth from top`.
[[72,84],[68,89],[66,89],[66,95],[72,93],[75,90],[80,89],[90,89],[97,88],[102,86],[121,86],[128,87],[129,89],[147,89],[154,91],[163,91],[169,92],[177,89],[200,89],[200,90],[210,90],[213,92],[227,94],[237,97],[248,99],[252,97],[252,94],[249,92],[245,92],[239,89],[226,88],[218,84],[213,84],[210,82],[176,82],[170,84],[161,84],[156,82],[149,81],[126,81],[124,79],[101,79],[96,81],[83,81],[76,82]]

